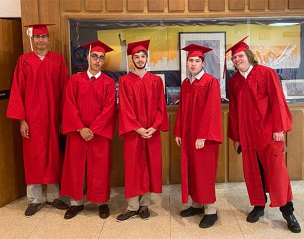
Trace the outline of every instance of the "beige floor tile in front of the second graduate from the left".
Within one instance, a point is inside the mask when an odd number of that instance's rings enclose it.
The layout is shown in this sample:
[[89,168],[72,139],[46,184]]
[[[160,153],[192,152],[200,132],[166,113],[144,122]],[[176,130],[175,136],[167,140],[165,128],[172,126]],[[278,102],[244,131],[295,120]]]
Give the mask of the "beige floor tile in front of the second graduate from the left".
[[98,238],[105,219],[99,218],[96,204],[86,202],[85,209],[72,219],[64,219],[64,213],[52,207],[28,238]]

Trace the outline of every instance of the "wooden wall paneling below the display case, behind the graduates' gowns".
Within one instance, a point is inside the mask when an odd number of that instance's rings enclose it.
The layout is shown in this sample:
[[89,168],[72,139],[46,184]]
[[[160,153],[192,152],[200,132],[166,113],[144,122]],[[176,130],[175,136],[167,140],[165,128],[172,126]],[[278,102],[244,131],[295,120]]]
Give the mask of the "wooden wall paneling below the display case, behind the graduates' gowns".
[[[304,104],[288,105],[293,117],[293,130],[286,134],[287,145],[286,165],[291,180],[304,179]],[[162,132],[163,153],[163,184],[180,183],[180,147],[175,143],[173,135],[176,120],[176,106],[168,106],[170,130]],[[219,148],[217,182],[244,181],[242,154],[238,155],[233,141],[226,137],[228,126],[228,105],[222,105],[223,143]],[[123,139],[117,131],[112,142],[112,171],[113,186],[124,185]]]

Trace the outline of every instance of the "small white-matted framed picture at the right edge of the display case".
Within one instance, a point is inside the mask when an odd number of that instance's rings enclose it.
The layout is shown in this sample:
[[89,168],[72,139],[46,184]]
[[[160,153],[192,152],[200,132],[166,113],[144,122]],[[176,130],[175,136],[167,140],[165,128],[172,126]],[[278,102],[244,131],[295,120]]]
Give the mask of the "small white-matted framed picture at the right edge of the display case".
[[304,99],[304,79],[287,79],[282,87],[286,99]]

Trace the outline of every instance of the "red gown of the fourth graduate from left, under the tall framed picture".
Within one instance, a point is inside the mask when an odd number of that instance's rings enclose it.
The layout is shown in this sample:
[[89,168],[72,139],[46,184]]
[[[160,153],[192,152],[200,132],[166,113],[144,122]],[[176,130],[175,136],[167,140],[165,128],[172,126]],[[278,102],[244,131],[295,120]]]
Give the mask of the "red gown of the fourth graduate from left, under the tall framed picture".
[[[188,195],[200,204],[215,202],[215,177],[219,144],[222,143],[220,89],[216,78],[204,73],[181,86],[174,135],[181,138],[182,203]],[[206,139],[202,149],[197,139]]]

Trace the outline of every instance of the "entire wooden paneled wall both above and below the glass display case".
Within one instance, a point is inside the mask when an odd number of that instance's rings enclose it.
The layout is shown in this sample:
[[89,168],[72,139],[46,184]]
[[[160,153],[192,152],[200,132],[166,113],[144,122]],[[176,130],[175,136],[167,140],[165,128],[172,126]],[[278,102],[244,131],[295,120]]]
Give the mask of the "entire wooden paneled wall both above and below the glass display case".
[[[302,16],[302,0],[21,0],[22,24],[55,23],[49,27],[50,50],[61,52],[69,64],[69,18],[215,18]],[[24,52],[29,51],[23,29]],[[287,167],[291,179],[304,179],[304,105],[289,105],[294,130],[287,134]],[[173,127],[176,107],[168,107],[170,131],[162,133],[163,183],[180,183],[180,148],[175,144]],[[226,136],[227,106],[222,106],[224,143],[220,146],[217,181],[242,181],[242,159]],[[117,132],[117,131],[116,131]],[[123,139],[112,144],[112,186],[124,182]]]

